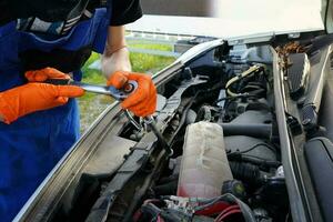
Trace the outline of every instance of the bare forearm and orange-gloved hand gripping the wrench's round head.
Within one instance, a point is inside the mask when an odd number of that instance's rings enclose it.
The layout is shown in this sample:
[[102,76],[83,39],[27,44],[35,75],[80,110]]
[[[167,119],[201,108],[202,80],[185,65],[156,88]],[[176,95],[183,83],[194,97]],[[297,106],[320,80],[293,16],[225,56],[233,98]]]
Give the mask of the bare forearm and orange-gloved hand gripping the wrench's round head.
[[108,85],[121,89],[129,80],[138,82],[138,89],[122,102],[123,109],[129,109],[138,117],[147,117],[157,109],[157,89],[150,75],[131,71],[129,50],[124,38],[124,27],[109,27],[109,36],[102,56],[102,72],[108,79]]

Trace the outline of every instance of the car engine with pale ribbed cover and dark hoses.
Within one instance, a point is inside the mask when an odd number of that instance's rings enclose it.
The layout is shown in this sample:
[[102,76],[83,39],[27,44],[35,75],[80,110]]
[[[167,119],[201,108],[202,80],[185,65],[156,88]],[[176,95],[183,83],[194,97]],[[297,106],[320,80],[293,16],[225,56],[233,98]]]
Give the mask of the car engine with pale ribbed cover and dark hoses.
[[[213,70],[196,60],[159,89],[155,119],[168,123],[163,137],[173,153],[158,170],[160,157],[141,169],[141,176],[154,172],[151,180],[132,180],[108,221],[289,220],[270,49],[211,53]],[[129,128],[123,137],[143,134]]]

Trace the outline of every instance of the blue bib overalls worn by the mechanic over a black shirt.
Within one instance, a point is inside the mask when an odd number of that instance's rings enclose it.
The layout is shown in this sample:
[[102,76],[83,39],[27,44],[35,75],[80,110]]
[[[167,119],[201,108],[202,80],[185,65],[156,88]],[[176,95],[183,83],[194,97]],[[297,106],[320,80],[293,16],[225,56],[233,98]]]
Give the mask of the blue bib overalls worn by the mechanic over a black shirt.
[[[19,52],[29,49],[78,50],[93,46],[102,52],[110,11],[95,10],[72,30],[53,40],[18,31],[16,21],[0,27],[0,91],[24,84]],[[0,123],[0,220],[11,221],[37,186],[79,138],[79,110],[75,100],[47,111]]]

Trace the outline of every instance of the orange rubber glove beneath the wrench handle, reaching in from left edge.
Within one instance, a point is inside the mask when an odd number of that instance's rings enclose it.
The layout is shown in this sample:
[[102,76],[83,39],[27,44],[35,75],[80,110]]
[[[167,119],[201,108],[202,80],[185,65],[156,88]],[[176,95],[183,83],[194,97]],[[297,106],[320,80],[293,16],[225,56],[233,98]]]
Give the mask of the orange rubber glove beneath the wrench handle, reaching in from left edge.
[[9,124],[24,114],[65,104],[69,98],[83,93],[74,85],[28,83],[0,92],[0,113]]

